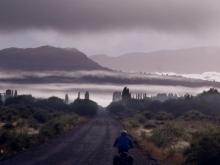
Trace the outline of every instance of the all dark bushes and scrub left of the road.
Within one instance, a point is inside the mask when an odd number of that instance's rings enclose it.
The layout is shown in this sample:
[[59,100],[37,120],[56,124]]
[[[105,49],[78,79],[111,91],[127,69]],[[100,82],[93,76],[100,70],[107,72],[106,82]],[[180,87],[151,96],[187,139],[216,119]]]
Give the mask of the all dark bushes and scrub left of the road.
[[73,129],[97,110],[97,104],[90,100],[65,104],[57,97],[18,96],[1,102],[0,160]]

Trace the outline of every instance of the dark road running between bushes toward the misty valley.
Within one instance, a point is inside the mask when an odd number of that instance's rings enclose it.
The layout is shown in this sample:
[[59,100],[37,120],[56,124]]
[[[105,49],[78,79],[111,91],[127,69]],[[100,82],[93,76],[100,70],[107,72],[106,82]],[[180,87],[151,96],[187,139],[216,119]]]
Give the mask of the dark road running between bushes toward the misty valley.
[[[0,165],[112,165],[112,147],[120,125],[106,111],[80,128],[23,152]],[[138,149],[131,155],[135,165],[149,165]]]

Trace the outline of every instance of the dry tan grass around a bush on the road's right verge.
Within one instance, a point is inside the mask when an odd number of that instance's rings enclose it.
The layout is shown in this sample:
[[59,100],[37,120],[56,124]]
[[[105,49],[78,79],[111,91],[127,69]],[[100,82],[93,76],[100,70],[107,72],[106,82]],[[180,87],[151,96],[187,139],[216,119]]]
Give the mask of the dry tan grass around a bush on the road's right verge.
[[[135,118],[125,118],[121,122],[146,156],[159,160],[163,165],[184,164],[185,157],[183,153],[190,146],[193,134],[195,132],[220,128],[219,125],[211,121],[184,121],[179,119],[168,121],[163,125],[157,125],[157,128],[152,129],[146,129],[144,124],[138,122]],[[182,128],[183,131],[180,131],[182,135],[181,137],[177,136],[174,138],[174,141],[169,145],[158,147],[152,140],[152,134],[155,129],[164,128],[167,124],[180,130]]]

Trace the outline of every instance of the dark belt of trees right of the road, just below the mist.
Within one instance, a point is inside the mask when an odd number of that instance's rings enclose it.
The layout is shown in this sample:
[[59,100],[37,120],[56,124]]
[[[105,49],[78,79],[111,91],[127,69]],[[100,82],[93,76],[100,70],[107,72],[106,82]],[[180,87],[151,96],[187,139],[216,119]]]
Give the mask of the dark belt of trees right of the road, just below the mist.
[[[126,89],[124,93],[126,93]],[[129,102],[124,102],[124,106],[136,112],[148,110],[152,113],[158,113],[164,111],[172,113],[175,117],[192,110],[197,110],[211,119],[212,116],[220,116],[220,93],[216,89],[211,88],[209,91],[198,94],[197,96],[186,94],[178,99],[170,99],[164,102],[131,99]]]

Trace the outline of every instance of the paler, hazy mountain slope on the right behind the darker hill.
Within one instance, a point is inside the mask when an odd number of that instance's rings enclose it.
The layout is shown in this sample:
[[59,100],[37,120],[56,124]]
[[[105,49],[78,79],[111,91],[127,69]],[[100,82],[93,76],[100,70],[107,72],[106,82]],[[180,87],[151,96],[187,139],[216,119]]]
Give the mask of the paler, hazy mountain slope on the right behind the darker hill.
[[203,73],[220,72],[220,47],[198,47],[162,50],[149,53],[129,53],[119,57],[91,56],[100,65],[138,72]]

